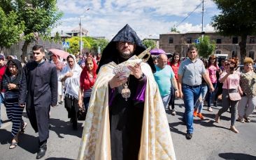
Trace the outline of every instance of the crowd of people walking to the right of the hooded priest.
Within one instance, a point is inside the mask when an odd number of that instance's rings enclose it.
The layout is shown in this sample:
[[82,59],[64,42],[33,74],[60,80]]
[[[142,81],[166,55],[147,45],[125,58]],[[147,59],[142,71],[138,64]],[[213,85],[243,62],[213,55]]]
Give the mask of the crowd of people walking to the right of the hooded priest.
[[[230,130],[239,133],[234,123],[250,122],[249,115],[253,113],[256,106],[255,101],[255,79],[256,73],[253,68],[253,59],[250,57],[244,58],[244,68],[241,71],[239,68],[239,58],[222,59],[218,64],[215,56],[210,56],[208,59],[198,57],[197,48],[190,46],[187,52],[188,58],[185,61],[180,61],[178,53],[174,53],[171,60],[165,61],[165,65],[171,65],[169,75],[175,74],[178,79],[166,77],[169,84],[173,83],[168,95],[162,96],[163,103],[166,104],[166,99],[169,101],[168,109],[171,110],[171,115],[176,115],[171,97],[176,96],[176,93],[171,90],[177,90],[176,81],[180,90],[180,97],[183,98],[185,104],[185,113],[183,121],[187,125],[186,138],[191,139],[193,133],[193,116],[204,120],[202,113],[204,103],[207,106],[206,110],[213,112],[212,106],[218,105],[218,99],[221,99],[222,108],[215,115],[215,122],[220,122],[220,115],[230,110],[231,125]],[[162,65],[162,54],[155,57],[154,63],[156,66]],[[166,75],[166,74],[165,74]],[[164,79],[164,77],[162,77]],[[158,76],[155,74],[155,79]],[[162,80],[163,81],[163,80]],[[157,83],[161,91],[165,83]],[[161,92],[160,92],[161,93]],[[238,113],[237,113],[238,112]],[[238,118],[236,118],[238,115]]]

